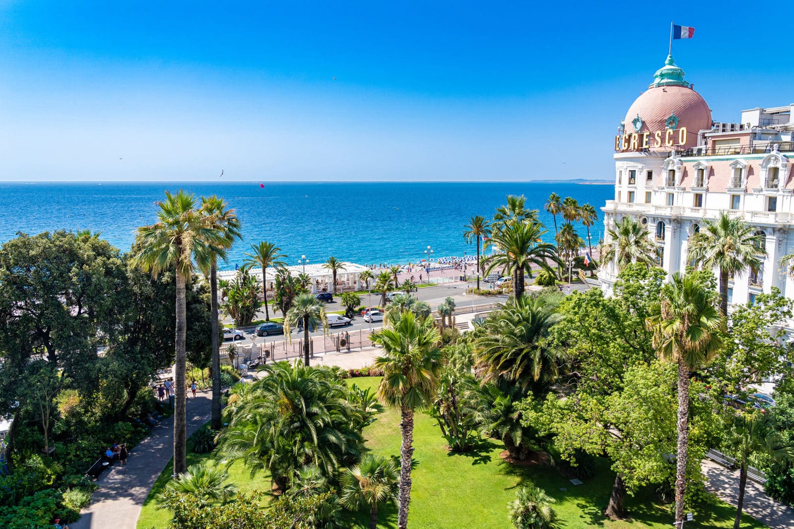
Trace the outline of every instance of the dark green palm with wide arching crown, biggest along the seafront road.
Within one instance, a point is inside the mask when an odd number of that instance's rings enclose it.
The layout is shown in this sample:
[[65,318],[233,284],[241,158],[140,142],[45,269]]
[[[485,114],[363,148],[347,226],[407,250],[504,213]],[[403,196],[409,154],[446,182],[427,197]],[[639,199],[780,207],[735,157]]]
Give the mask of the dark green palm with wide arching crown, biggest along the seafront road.
[[552,244],[542,242],[545,235],[543,225],[538,222],[507,224],[491,237],[499,252],[483,259],[488,273],[491,270],[507,270],[513,276],[515,297],[524,294],[524,273],[532,277],[532,265],[552,271],[551,263],[559,263],[557,250]]

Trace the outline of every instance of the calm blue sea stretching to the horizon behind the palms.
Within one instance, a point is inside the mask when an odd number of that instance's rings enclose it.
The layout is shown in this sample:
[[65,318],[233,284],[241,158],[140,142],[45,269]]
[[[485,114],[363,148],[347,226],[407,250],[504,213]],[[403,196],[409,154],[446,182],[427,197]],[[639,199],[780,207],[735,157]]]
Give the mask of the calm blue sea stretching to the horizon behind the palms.
[[[155,201],[164,190],[218,194],[237,210],[244,240],[234,245],[229,263],[242,263],[250,243],[269,240],[289,255],[319,263],[330,255],[355,263],[407,263],[422,259],[428,245],[434,257],[473,252],[461,232],[473,215],[491,217],[507,194],[524,194],[553,240],[552,218],[542,206],[549,194],[574,197],[596,209],[614,196],[613,186],[539,183],[0,183],[0,241],[16,232],[65,228],[101,231],[126,251],[137,226],[154,222]],[[600,210],[599,210],[600,217]],[[560,221],[559,217],[557,218]],[[592,228],[593,243],[603,224]],[[578,228],[586,236],[584,226]]]

